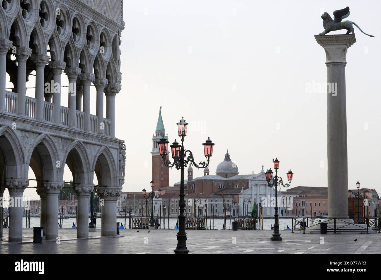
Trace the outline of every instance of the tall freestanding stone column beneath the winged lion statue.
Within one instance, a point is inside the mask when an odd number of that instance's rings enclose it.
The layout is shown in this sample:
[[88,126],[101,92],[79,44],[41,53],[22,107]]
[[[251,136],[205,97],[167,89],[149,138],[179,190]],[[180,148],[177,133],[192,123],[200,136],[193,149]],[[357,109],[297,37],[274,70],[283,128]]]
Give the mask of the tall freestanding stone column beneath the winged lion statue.
[[328,216],[348,217],[348,158],[345,65],[354,34],[315,35],[327,62]]

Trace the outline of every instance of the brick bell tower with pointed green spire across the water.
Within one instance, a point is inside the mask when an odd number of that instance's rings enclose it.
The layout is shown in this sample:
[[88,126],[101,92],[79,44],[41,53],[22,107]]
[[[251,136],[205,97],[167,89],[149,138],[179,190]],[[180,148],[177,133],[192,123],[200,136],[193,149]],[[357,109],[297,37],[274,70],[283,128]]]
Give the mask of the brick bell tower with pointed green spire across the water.
[[[159,109],[159,117],[157,119],[157,125],[155,134],[152,135],[152,181],[154,181],[154,190],[162,189],[169,186],[169,168],[163,163],[162,156],[159,152],[158,141],[162,138],[168,139],[168,135],[165,136],[165,129],[162,119],[162,106]],[[165,157],[168,160],[168,155]]]

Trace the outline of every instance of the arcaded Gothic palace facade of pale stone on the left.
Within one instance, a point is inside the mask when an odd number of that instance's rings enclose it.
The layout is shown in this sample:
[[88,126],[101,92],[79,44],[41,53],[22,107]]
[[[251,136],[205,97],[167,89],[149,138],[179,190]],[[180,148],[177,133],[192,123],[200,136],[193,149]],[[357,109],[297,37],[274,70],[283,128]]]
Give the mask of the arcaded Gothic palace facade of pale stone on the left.
[[[41,226],[47,240],[56,239],[67,164],[78,195],[77,237],[88,237],[94,187],[104,199],[101,236],[115,236],[125,168],[124,141],[115,138],[123,0],[0,2],[0,196],[8,188],[10,197],[22,197],[30,166]],[[26,96],[34,75],[35,96]],[[62,75],[69,80],[68,107],[61,106]],[[90,114],[90,86],[96,88],[96,115]],[[9,208],[9,242],[22,240],[22,211]]]

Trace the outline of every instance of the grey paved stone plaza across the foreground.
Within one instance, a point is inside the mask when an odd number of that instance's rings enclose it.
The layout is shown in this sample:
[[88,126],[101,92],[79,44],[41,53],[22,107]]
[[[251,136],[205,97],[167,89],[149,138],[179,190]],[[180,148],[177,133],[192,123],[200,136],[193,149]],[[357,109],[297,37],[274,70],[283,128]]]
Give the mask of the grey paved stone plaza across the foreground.
[[[5,230],[5,235],[7,229]],[[119,237],[100,237],[100,232],[89,232],[90,239],[77,239],[76,231],[59,229],[60,244],[54,241],[32,243],[32,229],[23,230],[22,243],[0,243],[1,254],[173,254],[177,230],[120,230]],[[370,254],[379,253],[381,234],[320,235],[281,231],[283,241],[271,242],[272,232],[231,230],[189,230],[187,248],[190,253],[237,254]],[[324,238],[324,243],[321,238]],[[357,239],[357,242],[353,240]],[[234,243],[235,240],[235,243]],[[147,243],[148,242],[148,243]]]

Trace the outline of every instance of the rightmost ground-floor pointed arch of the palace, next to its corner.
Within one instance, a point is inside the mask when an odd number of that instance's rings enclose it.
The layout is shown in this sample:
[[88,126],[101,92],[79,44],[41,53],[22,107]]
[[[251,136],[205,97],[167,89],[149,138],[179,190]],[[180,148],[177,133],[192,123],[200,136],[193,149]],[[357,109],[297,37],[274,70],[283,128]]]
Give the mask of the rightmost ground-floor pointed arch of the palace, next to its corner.
[[115,166],[115,159],[110,148],[102,146],[95,157],[91,168],[98,178],[98,184],[107,187],[119,187],[118,172]]

